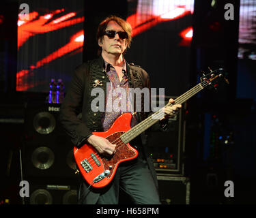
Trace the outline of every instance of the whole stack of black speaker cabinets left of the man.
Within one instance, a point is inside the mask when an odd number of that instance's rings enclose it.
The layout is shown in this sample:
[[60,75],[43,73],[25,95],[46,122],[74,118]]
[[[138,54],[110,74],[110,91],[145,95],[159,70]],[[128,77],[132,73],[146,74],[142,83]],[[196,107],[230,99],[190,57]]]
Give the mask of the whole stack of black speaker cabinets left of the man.
[[74,145],[59,125],[59,108],[59,104],[27,104],[25,108],[22,161],[23,180],[30,186],[29,204],[68,203],[63,195],[73,198],[68,193],[73,196],[78,187]]

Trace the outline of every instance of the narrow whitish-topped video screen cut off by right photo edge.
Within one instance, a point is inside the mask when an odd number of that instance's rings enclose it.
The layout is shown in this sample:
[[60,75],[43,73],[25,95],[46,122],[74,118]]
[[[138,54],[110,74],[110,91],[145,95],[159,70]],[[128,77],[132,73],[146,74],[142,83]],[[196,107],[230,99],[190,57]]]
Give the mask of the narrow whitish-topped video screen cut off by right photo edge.
[[256,100],[256,1],[240,1],[237,97]]

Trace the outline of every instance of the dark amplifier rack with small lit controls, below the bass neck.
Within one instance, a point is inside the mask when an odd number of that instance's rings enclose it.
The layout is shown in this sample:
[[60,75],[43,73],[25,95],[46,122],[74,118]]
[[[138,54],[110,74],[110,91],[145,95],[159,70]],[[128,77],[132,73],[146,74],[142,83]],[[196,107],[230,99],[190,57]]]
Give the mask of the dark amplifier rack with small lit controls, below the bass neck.
[[[165,96],[164,105],[169,102],[170,98],[176,97]],[[165,131],[151,128],[147,132],[148,149],[158,174],[184,175],[185,111],[186,103],[182,105],[182,110],[177,115],[169,119]]]

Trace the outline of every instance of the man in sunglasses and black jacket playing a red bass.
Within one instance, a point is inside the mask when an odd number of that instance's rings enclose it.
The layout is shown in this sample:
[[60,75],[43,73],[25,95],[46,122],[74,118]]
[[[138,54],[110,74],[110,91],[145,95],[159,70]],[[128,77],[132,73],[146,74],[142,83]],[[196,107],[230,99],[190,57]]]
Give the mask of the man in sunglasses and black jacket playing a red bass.
[[[150,89],[150,78],[147,72],[137,65],[128,64],[124,59],[124,52],[131,44],[131,34],[130,24],[117,16],[109,16],[100,22],[97,33],[99,57],[76,68],[68,93],[61,105],[59,119],[77,148],[74,151],[82,151],[83,144],[89,144],[91,149],[96,151],[91,153],[91,159],[79,160],[78,165],[85,171],[85,176],[92,173],[94,168],[102,167],[101,159],[105,159],[104,163],[106,163],[111,158],[114,159],[120,151],[119,142],[122,137],[111,141],[102,137],[103,135],[98,134],[97,136],[94,133],[109,131],[119,116],[133,108],[132,104],[134,103],[129,100],[130,88]],[[122,91],[112,92],[111,95],[107,94],[110,90],[118,88]],[[99,102],[97,106],[94,106],[94,99],[97,97],[100,99],[98,95],[94,95],[96,89],[104,91],[105,94],[102,98],[104,104]],[[123,110],[124,107],[122,110],[116,110],[116,108],[120,109],[117,99],[120,99],[120,102],[124,100],[126,111]],[[117,104],[115,104],[116,102]],[[141,101],[142,110],[134,111],[136,113],[132,112],[130,123],[127,125],[134,127],[147,118],[150,113],[144,110],[147,103],[150,104],[150,102]],[[169,103],[171,105],[165,107],[164,115],[156,123],[160,128],[182,107],[181,104],[174,104],[173,99],[170,99]],[[106,110],[109,105],[113,106],[110,107],[112,110]],[[97,110],[101,106],[104,111]],[[81,117],[78,116],[79,113],[82,114]],[[122,119],[122,122],[116,124],[115,128],[118,130],[118,127],[124,123],[125,119]],[[124,142],[122,143],[124,144]],[[98,176],[92,178],[92,183],[88,183],[81,176],[79,204],[118,204],[120,189],[130,196],[134,204],[160,204],[156,172],[147,155],[145,134],[140,134],[129,143],[138,151],[139,155],[131,149],[134,152],[134,157],[119,163],[118,167],[117,165],[115,168],[108,166],[107,170],[103,170]],[[94,187],[94,184],[98,185],[104,180],[106,181],[107,178],[104,177],[110,173],[112,174],[111,182],[100,188]]]

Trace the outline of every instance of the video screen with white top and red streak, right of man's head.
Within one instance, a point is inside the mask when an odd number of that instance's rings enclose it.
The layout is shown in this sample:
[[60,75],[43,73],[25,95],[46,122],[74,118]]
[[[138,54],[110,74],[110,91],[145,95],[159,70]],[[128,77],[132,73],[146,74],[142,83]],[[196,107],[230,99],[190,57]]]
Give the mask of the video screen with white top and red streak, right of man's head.
[[133,41],[125,57],[141,65],[151,86],[165,88],[165,95],[181,95],[190,87],[193,10],[194,0],[128,1]]

